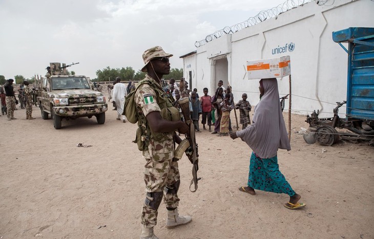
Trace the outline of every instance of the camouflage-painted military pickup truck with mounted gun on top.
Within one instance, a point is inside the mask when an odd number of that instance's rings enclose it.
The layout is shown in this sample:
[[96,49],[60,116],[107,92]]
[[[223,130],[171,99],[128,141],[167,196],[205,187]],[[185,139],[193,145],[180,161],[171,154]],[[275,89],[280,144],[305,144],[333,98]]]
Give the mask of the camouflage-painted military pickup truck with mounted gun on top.
[[89,77],[68,75],[67,67],[56,62],[47,67],[46,77],[41,79],[36,91],[41,118],[46,120],[50,114],[55,129],[61,128],[62,119],[95,116],[98,124],[105,123],[108,110],[105,96],[92,89]]

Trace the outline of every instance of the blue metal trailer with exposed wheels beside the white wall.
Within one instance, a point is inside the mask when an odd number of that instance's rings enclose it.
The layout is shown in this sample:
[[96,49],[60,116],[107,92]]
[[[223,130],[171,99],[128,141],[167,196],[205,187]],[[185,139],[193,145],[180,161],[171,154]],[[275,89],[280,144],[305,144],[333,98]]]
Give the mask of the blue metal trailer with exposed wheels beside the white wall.
[[[339,137],[374,141],[374,28],[336,31],[333,40],[348,53],[347,99],[337,102],[331,118],[319,119],[318,111],[307,116],[311,135],[321,145],[332,145]],[[348,42],[348,49],[342,42]],[[347,107],[345,119],[338,116],[343,104]],[[353,133],[338,133],[336,127]],[[304,139],[313,142],[310,137]]]

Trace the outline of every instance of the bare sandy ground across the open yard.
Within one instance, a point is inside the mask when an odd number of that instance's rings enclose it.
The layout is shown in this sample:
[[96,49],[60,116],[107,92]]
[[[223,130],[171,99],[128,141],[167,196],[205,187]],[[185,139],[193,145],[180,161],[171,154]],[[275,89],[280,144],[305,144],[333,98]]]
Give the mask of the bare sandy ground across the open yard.
[[[17,120],[0,117],[0,238],[139,238],[144,160],[131,142],[136,125],[115,120],[111,104],[105,124],[95,117],[64,120],[59,130],[33,110],[32,121],[21,109]],[[231,119],[236,125],[234,114]],[[191,163],[185,156],[179,163],[179,211],[193,221],[166,229],[162,203],[156,235],[374,238],[374,148],[343,141],[308,145],[297,133],[307,128],[304,120],[293,115],[292,150],[280,150],[278,159],[305,208],[284,208],[286,194],[240,192],[251,149],[239,139],[203,131],[197,133],[197,192],[189,191]]]

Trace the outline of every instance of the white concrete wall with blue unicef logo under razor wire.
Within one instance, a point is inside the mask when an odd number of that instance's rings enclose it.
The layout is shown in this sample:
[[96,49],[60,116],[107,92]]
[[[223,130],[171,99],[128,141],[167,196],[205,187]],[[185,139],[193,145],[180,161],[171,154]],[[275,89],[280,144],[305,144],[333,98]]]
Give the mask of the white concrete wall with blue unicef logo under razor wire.
[[[246,61],[289,55],[292,71],[292,112],[310,114],[320,110],[320,117],[333,114],[335,102],[346,100],[347,53],[332,40],[333,31],[348,27],[374,27],[374,2],[370,0],[336,0],[331,6],[310,2],[277,17],[231,35],[207,42],[184,62],[196,70],[192,88],[216,89],[216,58],[226,57],[228,82],[235,101],[248,94],[251,104],[259,101],[258,80],[248,80]],[[273,54],[274,49],[290,42],[295,49]],[[184,64],[186,65],[186,63]],[[187,75],[189,69],[184,68]],[[224,70],[222,70],[224,71]],[[280,96],[288,94],[288,77],[278,78]],[[227,84],[224,84],[227,86]],[[288,102],[286,101],[286,108]],[[287,111],[287,110],[286,110]],[[341,116],[345,108],[341,108]]]

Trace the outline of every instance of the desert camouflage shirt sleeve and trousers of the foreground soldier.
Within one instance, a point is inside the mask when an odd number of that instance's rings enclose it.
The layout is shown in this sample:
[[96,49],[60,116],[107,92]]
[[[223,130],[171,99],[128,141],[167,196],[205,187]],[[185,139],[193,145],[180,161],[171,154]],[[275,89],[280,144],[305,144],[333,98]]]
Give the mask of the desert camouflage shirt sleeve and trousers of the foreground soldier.
[[[146,75],[147,78],[152,79],[149,75]],[[144,116],[154,111],[161,111],[156,99],[155,90],[149,84],[142,84],[135,93],[135,102],[141,108]],[[142,151],[142,156],[146,159],[144,182],[146,183],[147,196],[142,208],[141,223],[148,228],[157,224],[157,209],[161,202],[160,195],[162,195],[156,193],[157,198],[153,198],[151,197],[152,193],[164,191],[165,205],[168,208],[178,207],[177,191],[180,175],[178,162],[173,161],[174,134],[174,132],[164,133],[164,140],[161,141],[156,141],[151,136],[148,150]],[[177,188],[175,189],[175,187]]]

